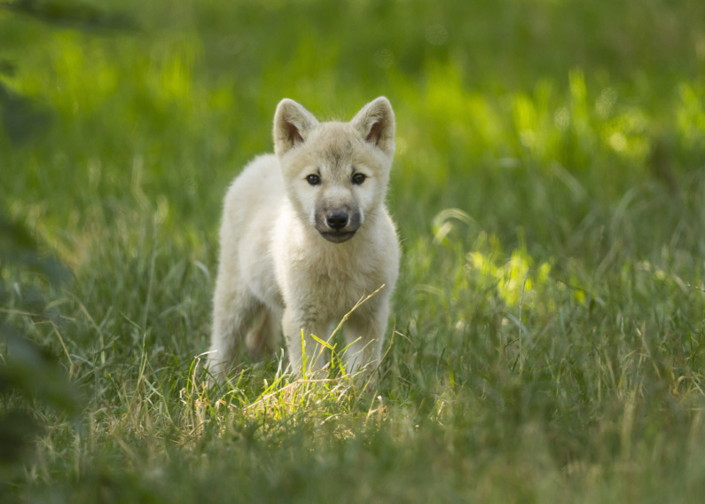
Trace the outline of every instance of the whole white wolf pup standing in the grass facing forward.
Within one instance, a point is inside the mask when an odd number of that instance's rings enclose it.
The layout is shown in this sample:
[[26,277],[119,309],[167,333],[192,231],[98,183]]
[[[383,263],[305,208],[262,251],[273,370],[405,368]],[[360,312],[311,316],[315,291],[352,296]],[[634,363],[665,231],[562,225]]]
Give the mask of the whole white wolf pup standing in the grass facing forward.
[[346,370],[374,370],[399,270],[384,204],[394,134],[387,98],[351,122],[318,122],[291,99],[279,103],[275,154],[250,162],[225,197],[208,357],[215,377],[241,343],[252,353],[276,348],[279,327],[294,369],[303,351],[307,368],[320,369],[311,335],[326,340],[363,295],[384,285],[344,327]]

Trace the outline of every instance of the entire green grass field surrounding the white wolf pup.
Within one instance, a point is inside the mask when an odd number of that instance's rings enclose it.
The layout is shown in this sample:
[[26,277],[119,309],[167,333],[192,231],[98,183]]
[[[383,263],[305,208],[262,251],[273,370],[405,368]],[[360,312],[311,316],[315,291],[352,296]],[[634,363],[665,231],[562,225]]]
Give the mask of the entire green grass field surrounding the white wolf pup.
[[[280,98],[379,95],[380,378],[279,353],[208,389],[231,178]],[[701,502],[701,0],[0,0],[0,114],[0,212],[41,251],[0,241],[0,317],[48,356],[0,343],[0,417],[36,426],[0,422],[0,500]]]

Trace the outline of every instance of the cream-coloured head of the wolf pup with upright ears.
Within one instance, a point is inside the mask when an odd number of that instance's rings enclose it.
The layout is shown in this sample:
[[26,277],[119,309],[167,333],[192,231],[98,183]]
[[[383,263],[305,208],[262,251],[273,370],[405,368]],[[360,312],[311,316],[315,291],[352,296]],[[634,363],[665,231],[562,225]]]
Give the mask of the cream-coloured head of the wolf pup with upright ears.
[[350,122],[318,122],[283,99],[274,114],[274,152],[286,194],[325,240],[350,240],[384,202],[394,157],[394,112],[377,98]]

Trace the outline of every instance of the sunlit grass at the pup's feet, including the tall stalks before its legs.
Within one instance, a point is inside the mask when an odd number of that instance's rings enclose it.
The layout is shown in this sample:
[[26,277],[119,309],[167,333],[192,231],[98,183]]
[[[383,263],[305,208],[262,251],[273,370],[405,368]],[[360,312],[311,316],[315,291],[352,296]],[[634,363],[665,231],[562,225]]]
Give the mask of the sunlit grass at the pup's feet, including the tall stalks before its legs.
[[[370,395],[365,392],[368,389],[372,391],[378,379],[378,370],[394,344],[394,337],[381,362],[376,363],[374,368],[362,367],[354,373],[346,370],[344,364],[353,343],[338,350],[338,343],[331,342],[349,316],[384,287],[382,285],[361,297],[327,341],[312,335],[316,343],[313,351],[305,347],[302,332],[302,363],[286,364],[287,357],[282,351],[272,363],[277,366],[273,375],[262,377],[253,374],[252,368],[243,367],[239,373],[218,383],[208,369],[201,372],[202,356],[195,358],[186,387],[179,391],[179,398],[186,408],[184,420],[187,430],[199,435],[208,424],[215,422],[216,429],[224,431],[233,421],[261,422],[265,429],[277,429],[282,422],[294,426],[305,423],[312,428],[333,423],[333,431],[340,430],[343,437],[353,436],[349,421],[361,418],[366,421],[373,413],[384,410],[382,406],[372,409],[376,400],[374,395],[366,413],[360,410],[360,404]],[[325,364],[319,362],[320,359]],[[260,380],[261,384],[258,383]]]

